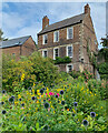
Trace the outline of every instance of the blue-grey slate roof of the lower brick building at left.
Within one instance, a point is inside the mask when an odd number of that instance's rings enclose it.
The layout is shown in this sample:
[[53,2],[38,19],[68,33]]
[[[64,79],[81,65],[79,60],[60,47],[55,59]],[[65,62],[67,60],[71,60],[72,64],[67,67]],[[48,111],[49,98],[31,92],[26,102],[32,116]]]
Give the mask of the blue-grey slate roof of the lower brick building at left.
[[9,48],[9,47],[16,47],[16,45],[22,45],[31,35],[10,39],[7,41],[0,42],[0,48]]

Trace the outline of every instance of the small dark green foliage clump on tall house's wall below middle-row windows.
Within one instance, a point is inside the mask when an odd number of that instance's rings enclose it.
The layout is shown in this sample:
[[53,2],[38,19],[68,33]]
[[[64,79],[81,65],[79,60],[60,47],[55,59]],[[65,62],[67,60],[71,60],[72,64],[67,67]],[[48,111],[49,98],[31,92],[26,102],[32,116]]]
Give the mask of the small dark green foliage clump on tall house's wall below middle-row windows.
[[57,57],[56,60],[53,60],[55,64],[60,64],[60,63],[70,63],[71,59],[69,57]]

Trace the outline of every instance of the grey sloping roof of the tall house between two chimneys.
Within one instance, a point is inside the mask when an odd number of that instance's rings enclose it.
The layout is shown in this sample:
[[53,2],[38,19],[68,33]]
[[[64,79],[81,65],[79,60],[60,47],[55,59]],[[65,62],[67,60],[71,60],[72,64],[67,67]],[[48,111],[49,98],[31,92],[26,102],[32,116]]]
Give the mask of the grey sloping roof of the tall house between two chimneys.
[[76,24],[78,22],[81,22],[81,20],[84,20],[84,18],[85,18],[85,13],[81,13],[81,14],[65,19],[62,21],[50,24],[49,27],[41,30],[38,34],[47,33],[49,31],[58,30],[60,28],[65,28],[65,27],[68,27],[68,25],[73,25],[73,24]]

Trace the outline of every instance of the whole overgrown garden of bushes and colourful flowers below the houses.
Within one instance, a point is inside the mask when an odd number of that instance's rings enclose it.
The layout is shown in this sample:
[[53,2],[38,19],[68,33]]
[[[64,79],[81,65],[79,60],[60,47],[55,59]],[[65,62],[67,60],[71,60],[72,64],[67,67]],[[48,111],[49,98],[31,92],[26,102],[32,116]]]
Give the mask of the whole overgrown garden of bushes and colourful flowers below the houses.
[[1,131],[107,131],[108,81],[59,72],[39,53],[2,61]]

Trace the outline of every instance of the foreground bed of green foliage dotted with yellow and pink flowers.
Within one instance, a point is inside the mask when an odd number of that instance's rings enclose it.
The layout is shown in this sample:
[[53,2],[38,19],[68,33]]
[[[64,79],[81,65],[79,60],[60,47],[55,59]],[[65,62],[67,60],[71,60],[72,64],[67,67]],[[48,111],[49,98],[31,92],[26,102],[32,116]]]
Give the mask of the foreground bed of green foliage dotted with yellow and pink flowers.
[[[57,86],[53,89],[38,83],[31,90],[14,94],[13,103],[9,102],[12,93],[3,94],[1,101],[4,104],[0,105],[7,113],[0,114],[1,131],[105,131],[108,125],[106,101],[101,101],[98,81],[89,82],[90,89],[89,83],[77,79],[66,79],[58,85],[55,84]],[[106,85],[105,81],[101,81],[101,84]],[[40,93],[42,88],[43,94]],[[63,95],[60,94],[61,90],[65,92]],[[59,96],[56,98],[56,94]],[[32,96],[37,99],[32,101]],[[66,102],[65,105],[61,104],[62,100]],[[49,103],[49,109],[45,108],[46,102]],[[75,102],[78,106],[73,106]],[[96,116],[91,117],[90,112],[95,112]],[[84,120],[89,122],[88,126],[84,126]]]

